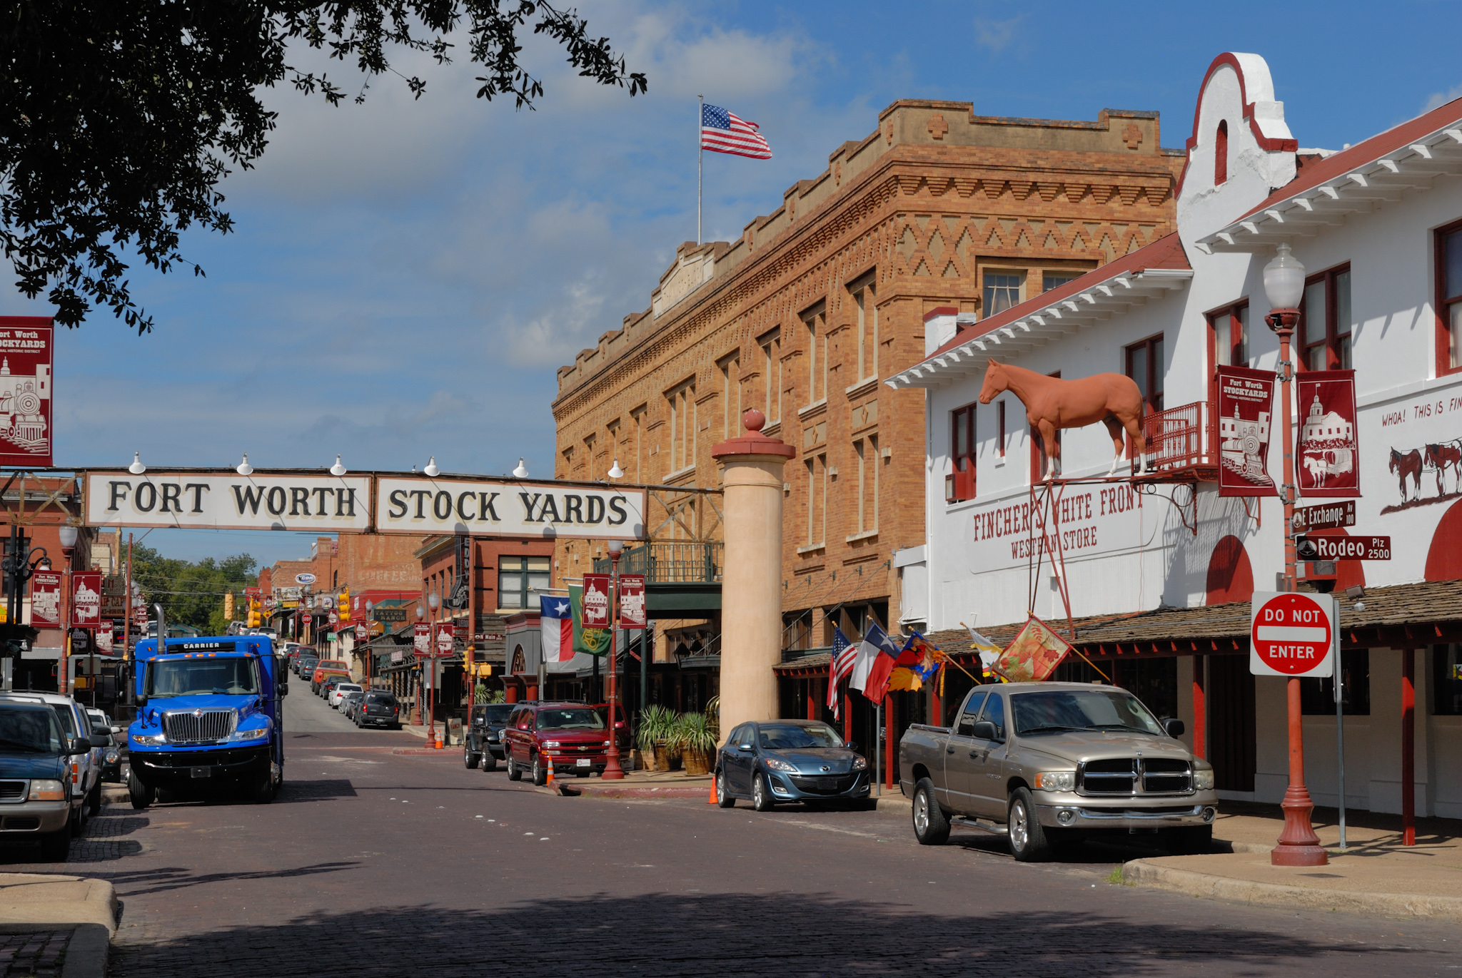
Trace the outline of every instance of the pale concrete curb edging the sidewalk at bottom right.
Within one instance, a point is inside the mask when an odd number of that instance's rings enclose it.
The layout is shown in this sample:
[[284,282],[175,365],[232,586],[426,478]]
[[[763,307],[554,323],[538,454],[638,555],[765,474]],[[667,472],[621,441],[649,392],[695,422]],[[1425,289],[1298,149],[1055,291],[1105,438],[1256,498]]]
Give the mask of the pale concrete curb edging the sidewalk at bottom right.
[[[1265,851],[1268,852],[1268,849]],[[1227,876],[1178,870],[1161,865],[1161,858],[1133,860],[1121,867],[1121,880],[1133,886],[1149,886],[1174,893],[1187,893],[1189,896],[1235,901],[1238,903],[1303,906],[1348,914],[1380,914],[1383,917],[1431,917],[1462,922],[1462,898],[1458,896],[1320,890],[1308,886],[1234,880]]]

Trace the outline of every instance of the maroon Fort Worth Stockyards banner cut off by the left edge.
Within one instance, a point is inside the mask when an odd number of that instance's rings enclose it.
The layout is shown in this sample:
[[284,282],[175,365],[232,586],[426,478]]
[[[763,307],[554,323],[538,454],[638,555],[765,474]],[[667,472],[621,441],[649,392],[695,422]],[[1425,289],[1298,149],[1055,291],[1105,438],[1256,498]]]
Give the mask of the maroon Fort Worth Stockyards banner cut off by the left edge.
[[51,320],[0,316],[0,465],[51,465]]

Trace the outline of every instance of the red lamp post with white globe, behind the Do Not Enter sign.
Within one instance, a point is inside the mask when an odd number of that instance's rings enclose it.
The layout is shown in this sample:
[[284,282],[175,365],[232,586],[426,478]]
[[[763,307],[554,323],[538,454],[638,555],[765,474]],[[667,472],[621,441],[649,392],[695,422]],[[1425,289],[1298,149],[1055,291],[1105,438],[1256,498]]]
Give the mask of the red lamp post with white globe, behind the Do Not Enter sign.
[[[1289,339],[1300,320],[1300,300],[1304,297],[1304,265],[1289,253],[1288,244],[1281,244],[1278,254],[1265,266],[1265,295],[1269,300],[1269,316],[1265,322],[1279,338],[1279,418],[1284,437],[1284,487],[1279,499],[1284,501],[1284,589],[1295,589],[1294,554],[1294,440],[1289,418],[1289,382],[1294,379],[1294,364],[1289,360]],[[1320,846],[1320,838],[1310,825],[1314,801],[1304,786],[1304,722],[1300,716],[1300,680],[1287,680],[1289,706],[1289,786],[1285,788],[1284,830],[1278,845],[1270,851],[1273,865],[1325,865],[1329,857]]]

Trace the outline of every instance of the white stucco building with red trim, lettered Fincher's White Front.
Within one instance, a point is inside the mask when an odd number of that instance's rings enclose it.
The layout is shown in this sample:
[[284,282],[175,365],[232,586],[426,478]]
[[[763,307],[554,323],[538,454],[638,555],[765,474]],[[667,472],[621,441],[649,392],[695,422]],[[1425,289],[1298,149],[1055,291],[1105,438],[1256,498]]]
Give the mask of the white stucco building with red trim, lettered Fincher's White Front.
[[[1079,648],[1189,722],[1225,797],[1279,801],[1284,683],[1249,674],[1247,599],[1284,569],[1282,507],[1221,499],[1215,479],[1225,458],[1251,466],[1244,440],[1269,425],[1281,482],[1282,434],[1268,415],[1216,418],[1213,370],[1276,370],[1262,269],[1288,243],[1307,272],[1295,367],[1354,367],[1358,399],[1344,433],[1320,431],[1342,418],[1289,405],[1295,436],[1308,424],[1327,444],[1358,441],[1349,532],[1393,541],[1389,561],[1303,567],[1306,586],[1367,591],[1364,611],[1342,599],[1347,803],[1402,810],[1411,724],[1417,813],[1462,817],[1462,493],[1449,450],[1462,446],[1462,99],[1338,152],[1300,142],[1265,60],[1222,54],[1199,91],[1175,234],[999,314],[927,322],[925,360],[886,382],[927,392],[928,541],[902,567],[918,582],[905,604],[927,604],[901,613],[959,648],[947,630],[961,623],[1004,639],[1028,611],[1064,633],[1069,602]],[[1063,433],[1047,496],[1020,401],[977,403],[991,360],[1132,376],[1158,478],[1104,481],[1113,444],[1096,424]],[[971,405],[972,493],[968,477],[953,493],[950,420]],[[1333,805],[1333,706],[1311,683],[1307,782]]]

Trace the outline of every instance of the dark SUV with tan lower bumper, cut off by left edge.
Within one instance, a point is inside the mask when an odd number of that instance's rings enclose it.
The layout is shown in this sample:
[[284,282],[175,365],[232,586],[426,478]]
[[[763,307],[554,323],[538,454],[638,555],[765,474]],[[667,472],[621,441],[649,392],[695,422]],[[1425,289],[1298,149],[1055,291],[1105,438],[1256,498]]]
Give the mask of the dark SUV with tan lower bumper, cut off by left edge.
[[86,807],[70,767],[92,750],[89,737],[66,735],[51,705],[0,700],[0,839],[37,839],[42,860],[63,863]]

